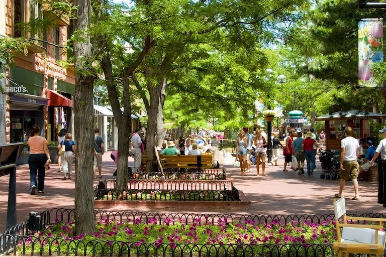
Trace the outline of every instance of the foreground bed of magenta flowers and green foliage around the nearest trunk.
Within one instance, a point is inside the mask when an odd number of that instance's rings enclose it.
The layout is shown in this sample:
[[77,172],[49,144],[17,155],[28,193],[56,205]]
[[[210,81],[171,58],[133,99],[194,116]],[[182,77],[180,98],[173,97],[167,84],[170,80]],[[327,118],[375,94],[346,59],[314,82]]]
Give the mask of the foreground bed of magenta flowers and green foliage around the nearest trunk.
[[[257,224],[191,224],[170,218],[159,224],[152,218],[148,224],[140,219],[120,223],[102,219],[92,234],[74,235],[74,223],[56,220],[43,232],[18,237],[17,254],[22,255],[146,255],[162,256],[251,256],[251,255],[333,255],[331,243],[336,239],[333,221],[322,224],[273,220]],[[132,224],[134,223],[134,224]],[[173,225],[174,223],[174,225]],[[283,256],[284,256],[283,255]]]

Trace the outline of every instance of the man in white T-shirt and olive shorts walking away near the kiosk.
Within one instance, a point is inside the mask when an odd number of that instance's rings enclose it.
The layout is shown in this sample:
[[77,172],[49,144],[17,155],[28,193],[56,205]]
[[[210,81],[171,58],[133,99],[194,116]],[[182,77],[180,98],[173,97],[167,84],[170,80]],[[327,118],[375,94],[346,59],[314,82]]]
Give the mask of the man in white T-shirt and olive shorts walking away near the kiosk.
[[352,179],[354,184],[355,196],[352,200],[359,200],[359,185],[358,180],[358,161],[359,156],[359,144],[356,139],[352,137],[352,129],[346,126],[344,129],[344,135],[346,138],[342,139],[340,143],[340,182],[339,182],[339,194],[335,194],[336,198],[344,197],[342,194],[344,183],[349,178]]

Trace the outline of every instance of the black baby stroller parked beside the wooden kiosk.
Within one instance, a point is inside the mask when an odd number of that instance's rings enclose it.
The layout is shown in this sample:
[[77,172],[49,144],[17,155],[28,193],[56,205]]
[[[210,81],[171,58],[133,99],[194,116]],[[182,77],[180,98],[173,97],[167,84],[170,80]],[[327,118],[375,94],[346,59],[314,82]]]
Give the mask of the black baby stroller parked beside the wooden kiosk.
[[319,161],[322,165],[321,179],[339,179],[339,157],[340,150],[323,150],[319,149]]

